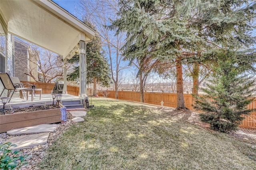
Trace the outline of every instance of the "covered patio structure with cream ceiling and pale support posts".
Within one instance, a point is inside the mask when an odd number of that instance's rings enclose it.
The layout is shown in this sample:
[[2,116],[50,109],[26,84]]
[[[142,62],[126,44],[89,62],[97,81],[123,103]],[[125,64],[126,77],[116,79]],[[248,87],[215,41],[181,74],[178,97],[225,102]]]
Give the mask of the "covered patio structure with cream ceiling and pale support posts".
[[[17,36],[63,57],[64,92],[67,91],[66,60],[78,53],[80,88],[76,98],[81,99],[85,105],[86,44],[94,38],[95,30],[51,0],[15,0],[0,1],[0,34],[6,39],[5,53],[1,53],[0,71],[15,77],[12,37]],[[63,99],[70,97],[74,96],[63,95]],[[51,101],[51,95],[42,95],[40,102],[43,101]],[[22,99],[11,100],[11,105],[17,103],[24,102]]]

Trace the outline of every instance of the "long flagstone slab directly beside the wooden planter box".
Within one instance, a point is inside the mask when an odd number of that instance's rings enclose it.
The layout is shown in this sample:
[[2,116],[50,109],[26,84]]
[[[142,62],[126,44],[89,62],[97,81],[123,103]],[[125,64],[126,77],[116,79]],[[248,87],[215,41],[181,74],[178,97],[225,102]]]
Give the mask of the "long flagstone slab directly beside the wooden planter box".
[[21,135],[21,134],[37,134],[37,133],[45,133],[45,132],[54,132],[59,125],[57,124],[42,124],[36,125],[32,127],[25,128],[16,128],[12,130],[8,130],[7,134],[9,135]]

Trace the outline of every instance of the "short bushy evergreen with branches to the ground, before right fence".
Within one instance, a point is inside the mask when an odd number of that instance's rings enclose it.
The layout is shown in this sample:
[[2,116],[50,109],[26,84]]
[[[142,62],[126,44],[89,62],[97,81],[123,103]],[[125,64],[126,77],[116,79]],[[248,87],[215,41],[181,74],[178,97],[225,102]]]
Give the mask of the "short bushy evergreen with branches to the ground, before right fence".
[[213,67],[213,74],[206,88],[206,95],[196,96],[194,108],[205,114],[200,114],[201,121],[210,123],[210,128],[227,132],[238,127],[248,115],[247,105],[253,101],[255,79],[248,75],[248,67],[240,65],[233,51],[221,50],[215,56],[218,61]]

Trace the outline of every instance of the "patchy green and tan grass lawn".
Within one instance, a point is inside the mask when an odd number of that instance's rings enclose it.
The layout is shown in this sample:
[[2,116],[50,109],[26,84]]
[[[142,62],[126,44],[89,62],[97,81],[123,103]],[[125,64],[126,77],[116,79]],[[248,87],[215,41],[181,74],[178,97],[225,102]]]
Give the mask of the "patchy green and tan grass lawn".
[[48,148],[45,170],[256,169],[256,147],[182,119],[173,109],[93,98],[85,121]]

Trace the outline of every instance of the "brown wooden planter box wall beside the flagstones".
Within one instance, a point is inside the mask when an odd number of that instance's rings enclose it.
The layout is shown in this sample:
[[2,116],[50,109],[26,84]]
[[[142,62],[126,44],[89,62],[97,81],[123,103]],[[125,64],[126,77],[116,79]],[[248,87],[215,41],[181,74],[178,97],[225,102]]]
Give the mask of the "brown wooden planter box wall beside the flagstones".
[[63,120],[61,120],[62,113],[60,109],[0,115],[0,133],[14,128],[61,122]]

